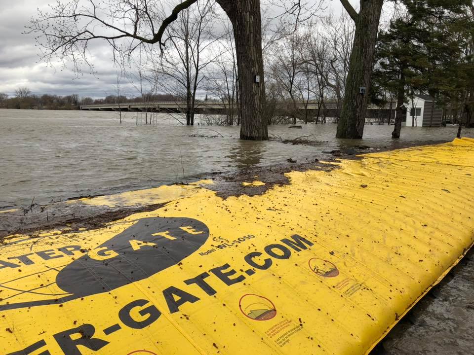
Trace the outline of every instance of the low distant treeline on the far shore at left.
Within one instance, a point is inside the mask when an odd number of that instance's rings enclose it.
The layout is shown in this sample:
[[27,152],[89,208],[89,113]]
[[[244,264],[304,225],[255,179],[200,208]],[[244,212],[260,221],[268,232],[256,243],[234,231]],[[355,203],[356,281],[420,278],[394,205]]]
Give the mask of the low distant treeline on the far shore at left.
[[0,93],[0,108],[18,109],[79,109],[81,105],[96,104],[117,104],[127,102],[151,102],[151,101],[172,101],[172,95],[144,95],[144,97],[127,98],[125,96],[109,95],[102,99],[92,99],[90,97],[79,98],[78,94],[67,96],[59,95],[35,95],[28,88],[18,88],[15,96],[9,97],[5,93]]

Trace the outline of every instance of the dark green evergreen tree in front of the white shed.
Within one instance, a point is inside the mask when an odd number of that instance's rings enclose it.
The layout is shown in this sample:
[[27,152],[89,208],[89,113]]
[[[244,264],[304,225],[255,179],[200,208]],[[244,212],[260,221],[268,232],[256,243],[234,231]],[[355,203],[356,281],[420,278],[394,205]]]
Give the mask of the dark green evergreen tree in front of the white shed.
[[[381,32],[377,45],[376,84],[397,97],[393,138],[400,137],[402,106],[407,96],[428,93],[438,104],[447,105],[466,80],[469,56],[463,54],[472,43],[472,0],[402,0],[406,13]],[[463,73],[464,72],[464,73]],[[431,112],[433,116],[433,110]]]

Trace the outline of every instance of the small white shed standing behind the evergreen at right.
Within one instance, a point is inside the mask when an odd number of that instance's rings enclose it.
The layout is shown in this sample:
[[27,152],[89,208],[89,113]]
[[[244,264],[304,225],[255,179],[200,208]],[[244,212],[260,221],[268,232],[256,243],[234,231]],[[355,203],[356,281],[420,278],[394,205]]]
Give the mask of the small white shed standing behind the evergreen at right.
[[404,105],[405,113],[402,122],[407,127],[440,127],[443,109],[435,106],[435,99],[428,95],[415,95],[413,101],[408,99]]

